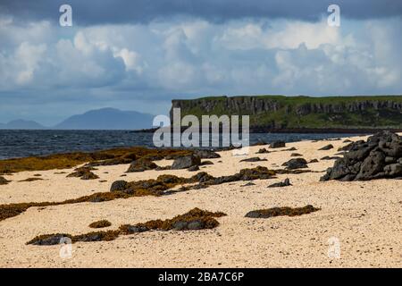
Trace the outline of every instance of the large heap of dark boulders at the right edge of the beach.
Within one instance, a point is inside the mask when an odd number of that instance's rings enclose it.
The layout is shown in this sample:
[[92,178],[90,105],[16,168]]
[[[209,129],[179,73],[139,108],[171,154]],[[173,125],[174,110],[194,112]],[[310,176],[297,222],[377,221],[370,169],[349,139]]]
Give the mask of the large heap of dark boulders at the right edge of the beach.
[[369,139],[351,143],[320,181],[368,181],[402,176],[402,139],[398,134],[381,131]]

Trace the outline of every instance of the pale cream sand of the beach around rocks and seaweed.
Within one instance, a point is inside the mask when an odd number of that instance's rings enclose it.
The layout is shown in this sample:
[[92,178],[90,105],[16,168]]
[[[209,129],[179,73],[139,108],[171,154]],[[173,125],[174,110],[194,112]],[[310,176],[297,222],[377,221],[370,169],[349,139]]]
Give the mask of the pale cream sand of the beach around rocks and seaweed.
[[[350,138],[366,139],[365,137]],[[307,161],[334,156],[344,139],[288,143],[276,152],[255,152],[268,146],[250,147],[248,156],[219,152],[221,158],[200,171],[230,175],[257,165],[283,169],[290,154]],[[318,150],[327,144],[331,150]],[[296,151],[282,151],[296,147]],[[272,151],[273,149],[269,149]],[[245,157],[267,161],[239,163]],[[222,162],[219,162],[222,161]],[[155,161],[158,165],[172,160]],[[162,197],[132,197],[102,203],[30,207],[0,221],[0,267],[400,267],[402,265],[402,180],[319,181],[334,160],[308,164],[301,174],[278,174],[276,179],[256,180],[242,187],[236,181],[206,189],[191,189]],[[128,164],[96,167],[99,179],[66,178],[69,170],[17,172],[4,175],[0,204],[63,201],[94,192],[109,191],[116,180],[138,181],[161,174],[190,177],[187,170],[125,173]],[[60,173],[60,172],[66,173]],[[21,181],[41,174],[41,181]],[[127,176],[121,177],[122,174]],[[267,188],[289,178],[292,186]],[[103,182],[100,182],[103,181]],[[247,212],[274,206],[313,205],[321,210],[300,216],[247,218]],[[89,223],[108,220],[115,230],[125,223],[168,219],[198,207],[227,216],[220,225],[200,231],[147,231],[120,236],[113,241],[78,242],[72,256],[62,258],[60,246],[26,245],[40,234],[94,231]],[[328,255],[331,241],[339,240],[339,257]]]

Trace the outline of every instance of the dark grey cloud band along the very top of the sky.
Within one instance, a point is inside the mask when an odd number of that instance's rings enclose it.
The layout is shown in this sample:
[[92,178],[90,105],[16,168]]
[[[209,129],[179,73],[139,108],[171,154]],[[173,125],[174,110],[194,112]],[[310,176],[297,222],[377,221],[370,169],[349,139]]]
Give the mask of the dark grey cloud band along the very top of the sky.
[[318,21],[330,4],[339,4],[350,19],[373,19],[402,15],[397,0],[3,0],[0,11],[24,20],[57,22],[61,4],[71,4],[80,25],[147,23],[174,16],[198,17],[222,22],[241,18],[285,18]]

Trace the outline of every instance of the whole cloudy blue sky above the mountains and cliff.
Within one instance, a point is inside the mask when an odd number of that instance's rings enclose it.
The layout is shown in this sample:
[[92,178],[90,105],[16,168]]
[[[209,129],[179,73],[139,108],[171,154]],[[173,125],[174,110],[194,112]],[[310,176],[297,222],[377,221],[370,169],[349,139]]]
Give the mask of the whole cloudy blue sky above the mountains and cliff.
[[167,114],[173,98],[400,95],[401,29],[399,0],[0,0],[0,122]]

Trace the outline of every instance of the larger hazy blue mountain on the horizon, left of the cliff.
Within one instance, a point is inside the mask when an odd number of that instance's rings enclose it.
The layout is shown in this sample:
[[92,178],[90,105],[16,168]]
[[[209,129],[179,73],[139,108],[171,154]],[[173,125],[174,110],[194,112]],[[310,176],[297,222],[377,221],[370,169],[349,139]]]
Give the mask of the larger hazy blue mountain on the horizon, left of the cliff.
[[140,130],[152,127],[154,115],[102,108],[73,115],[54,126],[63,130]]

